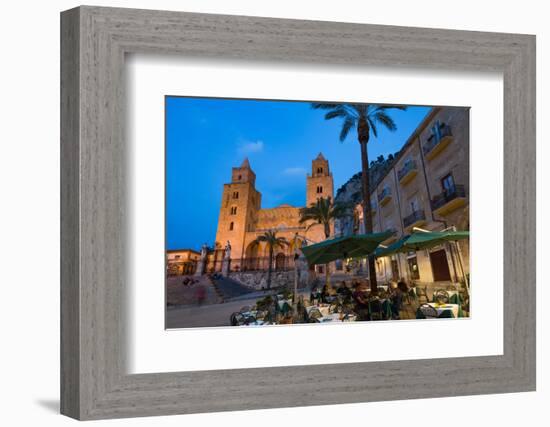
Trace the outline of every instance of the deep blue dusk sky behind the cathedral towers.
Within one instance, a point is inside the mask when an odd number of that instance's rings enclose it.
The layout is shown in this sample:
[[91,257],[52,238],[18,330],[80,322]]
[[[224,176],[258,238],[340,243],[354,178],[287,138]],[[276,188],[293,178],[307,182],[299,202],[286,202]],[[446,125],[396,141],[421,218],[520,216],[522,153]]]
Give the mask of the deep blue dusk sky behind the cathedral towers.
[[[357,133],[339,141],[341,119],[309,102],[166,97],[166,247],[214,244],[223,184],[248,157],[262,208],[304,206],[306,174],[319,152],[329,161],[334,191],[361,170]],[[430,107],[390,110],[397,130],[378,126],[369,160],[398,151]]]

